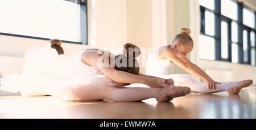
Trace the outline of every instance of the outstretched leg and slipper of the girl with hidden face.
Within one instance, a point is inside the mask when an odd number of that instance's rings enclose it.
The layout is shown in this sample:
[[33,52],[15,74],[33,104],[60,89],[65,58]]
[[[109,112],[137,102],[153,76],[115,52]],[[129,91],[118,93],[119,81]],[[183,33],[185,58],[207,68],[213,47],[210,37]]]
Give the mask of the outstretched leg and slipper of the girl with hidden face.
[[[98,101],[109,99],[112,101],[133,102],[148,98],[158,98],[165,93],[168,95],[173,87],[164,86],[163,88],[117,88],[112,85],[86,84],[76,87],[64,88],[61,92],[61,99],[64,101]],[[185,87],[170,94],[172,97],[185,96],[189,93]],[[190,91],[190,90],[189,90]]]

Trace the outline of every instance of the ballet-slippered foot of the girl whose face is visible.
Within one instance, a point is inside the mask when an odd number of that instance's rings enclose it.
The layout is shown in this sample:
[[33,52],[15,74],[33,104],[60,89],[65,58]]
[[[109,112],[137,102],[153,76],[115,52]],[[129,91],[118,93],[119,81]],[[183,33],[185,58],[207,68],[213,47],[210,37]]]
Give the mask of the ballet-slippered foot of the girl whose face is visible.
[[249,85],[253,84],[253,80],[243,80],[240,81],[240,83],[238,83],[236,86],[233,86],[233,84],[231,83],[231,88],[229,89],[229,94],[238,94],[240,93],[242,88],[245,88]]

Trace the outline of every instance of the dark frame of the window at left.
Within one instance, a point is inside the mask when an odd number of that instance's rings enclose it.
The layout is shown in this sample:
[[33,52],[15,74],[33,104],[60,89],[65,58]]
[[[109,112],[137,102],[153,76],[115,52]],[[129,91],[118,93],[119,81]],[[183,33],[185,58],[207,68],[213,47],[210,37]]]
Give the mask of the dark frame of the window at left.
[[[79,4],[80,8],[79,8],[79,42],[76,41],[65,41],[65,40],[61,40],[62,42],[67,42],[67,43],[71,43],[71,44],[84,44],[84,45],[88,45],[88,14],[87,14],[87,0],[63,0],[63,1],[70,1],[70,2],[76,2],[77,4]],[[81,11],[84,11],[85,14],[82,15]],[[38,39],[38,40],[51,40],[49,38],[44,38],[44,37],[34,37],[34,36],[26,36],[26,35],[22,35],[22,34],[13,34],[13,33],[4,33],[4,32],[0,32],[0,35],[5,35],[5,36],[14,36],[14,37],[24,37],[24,38],[32,38],[32,39]]]

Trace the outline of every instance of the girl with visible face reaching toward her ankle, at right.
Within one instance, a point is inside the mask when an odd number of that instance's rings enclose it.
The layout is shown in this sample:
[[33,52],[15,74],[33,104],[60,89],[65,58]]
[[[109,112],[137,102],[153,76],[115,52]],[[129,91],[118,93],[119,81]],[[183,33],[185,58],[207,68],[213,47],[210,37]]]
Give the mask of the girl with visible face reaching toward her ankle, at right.
[[[201,70],[196,64],[193,64],[186,56],[193,49],[193,40],[189,36],[191,31],[186,28],[181,29],[171,45],[159,47],[150,55],[147,60],[146,74],[163,78],[171,78],[175,85],[189,86],[191,92],[198,93],[216,93],[226,91],[229,94],[238,94],[242,88],[249,86],[253,80],[236,81],[232,83],[218,83]],[[205,83],[197,82],[192,75],[168,75],[170,64],[176,64],[183,70],[199,77]]]

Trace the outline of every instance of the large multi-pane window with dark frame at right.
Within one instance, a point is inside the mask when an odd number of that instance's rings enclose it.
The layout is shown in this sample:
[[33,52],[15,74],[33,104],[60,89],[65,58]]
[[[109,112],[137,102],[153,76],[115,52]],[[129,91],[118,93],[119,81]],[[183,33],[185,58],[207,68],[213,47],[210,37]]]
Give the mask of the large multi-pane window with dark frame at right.
[[199,0],[199,57],[255,66],[255,12],[234,0]]

